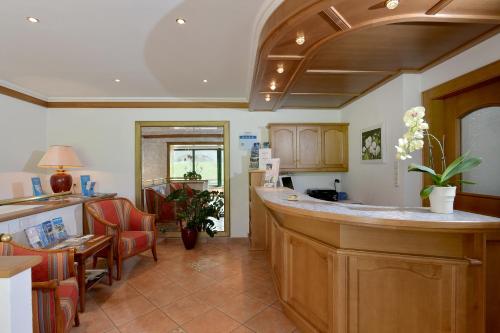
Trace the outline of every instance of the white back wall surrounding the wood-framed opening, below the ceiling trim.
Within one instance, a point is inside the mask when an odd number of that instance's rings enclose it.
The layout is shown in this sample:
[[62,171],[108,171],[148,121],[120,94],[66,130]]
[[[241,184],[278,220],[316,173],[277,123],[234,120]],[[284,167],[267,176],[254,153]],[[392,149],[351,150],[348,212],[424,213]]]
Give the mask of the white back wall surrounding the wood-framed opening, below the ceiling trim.
[[[73,175],[90,174],[97,181],[97,191],[118,192],[133,199],[134,126],[139,120],[230,121],[231,235],[238,237],[248,233],[248,153],[240,150],[238,135],[255,131],[267,141],[268,123],[338,122],[340,113],[336,110],[49,109],[47,144],[75,147],[85,168]],[[317,183],[327,184],[332,176],[323,174],[315,178]]]

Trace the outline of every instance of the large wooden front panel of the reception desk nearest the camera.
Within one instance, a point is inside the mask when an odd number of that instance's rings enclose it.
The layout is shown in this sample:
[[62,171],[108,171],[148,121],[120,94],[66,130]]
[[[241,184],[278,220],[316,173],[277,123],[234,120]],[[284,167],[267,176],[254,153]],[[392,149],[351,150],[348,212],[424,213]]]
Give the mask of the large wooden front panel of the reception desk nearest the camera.
[[338,254],[334,269],[335,332],[465,333],[465,261]]

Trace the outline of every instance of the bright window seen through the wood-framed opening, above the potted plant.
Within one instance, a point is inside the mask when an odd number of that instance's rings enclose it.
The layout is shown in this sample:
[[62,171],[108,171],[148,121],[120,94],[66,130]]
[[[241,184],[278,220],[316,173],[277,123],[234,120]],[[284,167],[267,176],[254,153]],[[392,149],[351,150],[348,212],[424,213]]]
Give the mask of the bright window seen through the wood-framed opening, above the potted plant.
[[221,145],[169,145],[169,176],[183,178],[196,171],[209,187],[224,185],[224,150]]

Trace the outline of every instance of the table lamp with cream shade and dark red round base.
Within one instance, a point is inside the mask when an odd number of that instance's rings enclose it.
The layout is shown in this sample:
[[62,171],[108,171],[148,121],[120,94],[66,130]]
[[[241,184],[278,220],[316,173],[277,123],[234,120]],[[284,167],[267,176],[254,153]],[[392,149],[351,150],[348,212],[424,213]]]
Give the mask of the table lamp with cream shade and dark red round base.
[[73,177],[64,169],[82,167],[80,159],[71,146],[50,146],[38,163],[42,168],[55,168],[56,173],[50,176],[50,187],[54,193],[71,190]]

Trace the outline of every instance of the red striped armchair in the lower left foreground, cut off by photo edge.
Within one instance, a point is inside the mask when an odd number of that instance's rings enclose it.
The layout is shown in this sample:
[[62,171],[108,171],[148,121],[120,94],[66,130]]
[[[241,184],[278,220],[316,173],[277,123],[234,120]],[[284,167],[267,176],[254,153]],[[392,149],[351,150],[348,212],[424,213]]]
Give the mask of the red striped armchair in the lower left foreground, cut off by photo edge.
[[75,326],[80,324],[73,249],[38,250],[0,242],[0,255],[42,257],[31,269],[33,332],[69,332],[73,321]]

